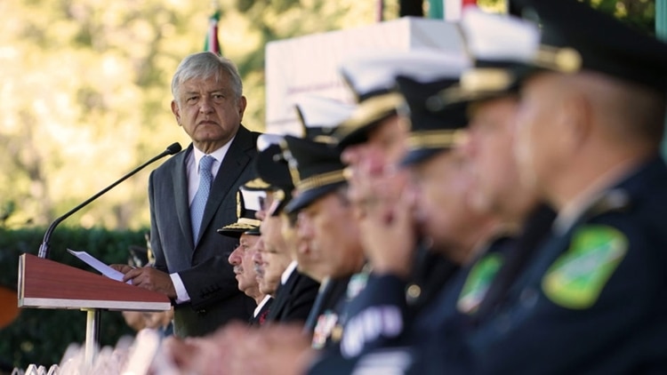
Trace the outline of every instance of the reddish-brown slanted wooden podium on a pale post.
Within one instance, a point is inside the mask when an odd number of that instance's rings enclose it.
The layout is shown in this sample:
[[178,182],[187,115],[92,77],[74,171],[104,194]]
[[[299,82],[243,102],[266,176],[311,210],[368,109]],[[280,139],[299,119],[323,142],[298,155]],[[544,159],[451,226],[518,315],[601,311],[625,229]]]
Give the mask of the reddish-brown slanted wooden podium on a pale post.
[[87,312],[85,361],[89,365],[98,349],[101,310],[165,311],[172,305],[164,294],[28,253],[19,258],[18,289],[19,307]]

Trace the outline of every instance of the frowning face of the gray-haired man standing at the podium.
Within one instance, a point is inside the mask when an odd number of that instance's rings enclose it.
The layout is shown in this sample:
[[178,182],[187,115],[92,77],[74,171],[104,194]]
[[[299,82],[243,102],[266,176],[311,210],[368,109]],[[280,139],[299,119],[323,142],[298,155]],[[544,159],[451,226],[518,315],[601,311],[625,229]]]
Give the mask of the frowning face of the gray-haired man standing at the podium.
[[181,84],[172,101],[176,121],[205,152],[225,145],[236,134],[245,112],[245,97],[236,98],[229,76],[195,77]]

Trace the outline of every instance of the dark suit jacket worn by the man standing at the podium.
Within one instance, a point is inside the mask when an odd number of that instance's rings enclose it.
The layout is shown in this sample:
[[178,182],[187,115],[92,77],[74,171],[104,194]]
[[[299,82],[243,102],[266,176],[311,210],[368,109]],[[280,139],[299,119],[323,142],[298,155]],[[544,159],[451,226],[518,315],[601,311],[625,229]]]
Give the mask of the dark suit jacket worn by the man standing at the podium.
[[205,335],[233,319],[247,321],[253,314],[256,304],[238,290],[227,260],[237,240],[219,235],[216,229],[237,220],[237,188],[252,178],[258,135],[239,127],[213,180],[197,246],[192,239],[186,173],[192,144],[150,174],[150,245],[155,267],[177,272],[190,296],[189,303],[174,308],[174,333],[179,337]]

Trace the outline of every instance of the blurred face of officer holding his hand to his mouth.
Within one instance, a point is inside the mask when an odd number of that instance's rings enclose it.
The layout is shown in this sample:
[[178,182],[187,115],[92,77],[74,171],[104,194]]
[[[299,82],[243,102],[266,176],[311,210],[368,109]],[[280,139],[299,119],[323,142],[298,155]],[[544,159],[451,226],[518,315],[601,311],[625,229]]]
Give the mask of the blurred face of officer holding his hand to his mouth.
[[368,133],[366,142],[343,151],[342,162],[351,172],[348,196],[358,208],[374,201],[377,185],[387,187],[387,195],[398,195],[405,186],[406,174],[394,165],[406,154],[407,129],[403,118],[390,116]]

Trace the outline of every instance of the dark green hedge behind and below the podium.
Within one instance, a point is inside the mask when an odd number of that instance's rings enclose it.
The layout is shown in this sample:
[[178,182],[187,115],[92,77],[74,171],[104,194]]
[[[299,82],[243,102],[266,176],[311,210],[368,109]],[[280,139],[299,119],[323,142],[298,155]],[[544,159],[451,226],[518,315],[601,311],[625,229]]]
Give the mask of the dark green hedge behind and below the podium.
[[[96,272],[66,249],[88,251],[108,264],[126,263],[130,245],[145,246],[145,232],[58,227],[50,241],[49,259]],[[9,230],[0,227],[0,285],[16,290],[20,254],[36,255],[43,237],[43,228]],[[46,368],[59,363],[69,344],[84,343],[85,318],[86,313],[80,310],[21,309],[16,320],[0,329],[0,363],[23,369],[29,363],[44,364]],[[119,338],[132,334],[119,312],[102,312],[102,345],[116,346]]]

